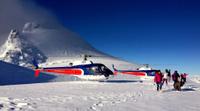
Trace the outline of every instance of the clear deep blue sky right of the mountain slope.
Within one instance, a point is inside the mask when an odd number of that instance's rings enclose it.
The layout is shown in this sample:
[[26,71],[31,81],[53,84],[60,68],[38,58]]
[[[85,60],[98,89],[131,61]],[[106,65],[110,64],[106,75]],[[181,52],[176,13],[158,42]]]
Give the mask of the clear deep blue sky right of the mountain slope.
[[36,0],[68,29],[110,55],[200,74],[200,1]]

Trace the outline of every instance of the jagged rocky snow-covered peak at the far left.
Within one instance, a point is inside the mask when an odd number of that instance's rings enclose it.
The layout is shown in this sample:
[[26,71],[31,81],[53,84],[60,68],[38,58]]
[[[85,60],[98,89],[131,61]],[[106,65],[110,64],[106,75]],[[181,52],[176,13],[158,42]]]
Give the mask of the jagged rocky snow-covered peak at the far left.
[[31,66],[33,59],[37,59],[38,62],[45,62],[47,59],[17,30],[11,30],[7,41],[0,47],[0,58],[3,61],[20,66]]

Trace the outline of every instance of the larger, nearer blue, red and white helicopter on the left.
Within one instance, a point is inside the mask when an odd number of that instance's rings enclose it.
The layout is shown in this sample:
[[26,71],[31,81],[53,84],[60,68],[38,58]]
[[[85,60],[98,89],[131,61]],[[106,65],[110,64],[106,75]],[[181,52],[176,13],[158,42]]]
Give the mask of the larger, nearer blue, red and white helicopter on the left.
[[77,62],[75,62],[75,64],[69,63],[69,66],[66,67],[39,67],[34,60],[35,77],[38,77],[41,72],[76,76],[83,80],[105,80],[113,75],[113,72],[104,64],[88,61],[87,57],[88,56],[84,56],[84,60],[79,64],[77,64]]

